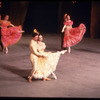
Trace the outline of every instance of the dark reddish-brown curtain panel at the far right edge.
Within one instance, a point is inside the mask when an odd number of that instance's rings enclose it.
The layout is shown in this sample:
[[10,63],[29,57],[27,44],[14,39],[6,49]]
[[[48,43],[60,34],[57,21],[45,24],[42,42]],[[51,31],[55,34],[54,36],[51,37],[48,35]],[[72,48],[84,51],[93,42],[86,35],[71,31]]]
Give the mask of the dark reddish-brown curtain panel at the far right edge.
[[91,38],[100,38],[100,1],[92,2],[90,25]]

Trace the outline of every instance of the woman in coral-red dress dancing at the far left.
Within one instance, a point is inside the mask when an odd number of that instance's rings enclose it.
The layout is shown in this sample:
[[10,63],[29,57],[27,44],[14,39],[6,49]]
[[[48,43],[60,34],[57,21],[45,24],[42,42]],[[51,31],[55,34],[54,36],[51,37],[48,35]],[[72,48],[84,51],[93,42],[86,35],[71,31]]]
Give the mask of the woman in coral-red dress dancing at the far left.
[[7,47],[17,43],[22,36],[22,32],[24,32],[21,25],[14,26],[10,21],[8,21],[8,19],[9,16],[6,15],[4,20],[1,21],[1,40],[3,43],[3,52],[4,49],[6,49],[6,54],[8,53]]

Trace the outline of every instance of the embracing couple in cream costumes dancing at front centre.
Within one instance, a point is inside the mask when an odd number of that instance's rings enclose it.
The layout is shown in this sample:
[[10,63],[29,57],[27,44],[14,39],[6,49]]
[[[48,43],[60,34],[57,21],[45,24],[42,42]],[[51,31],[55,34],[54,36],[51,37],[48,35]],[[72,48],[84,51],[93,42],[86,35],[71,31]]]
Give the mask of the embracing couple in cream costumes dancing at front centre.
[[32,63],[32,71],[28,76],[28,81],[31,82],[32,78],[43,79],[44,81],[51,80],[49,75],[53,75],[57,79],[54,71],[61,54],[67,50],[57,51],[55,53],[45,52],[46,45],[43,41],[41,34],[33,33],[32,40],[30,41],[30,61]]

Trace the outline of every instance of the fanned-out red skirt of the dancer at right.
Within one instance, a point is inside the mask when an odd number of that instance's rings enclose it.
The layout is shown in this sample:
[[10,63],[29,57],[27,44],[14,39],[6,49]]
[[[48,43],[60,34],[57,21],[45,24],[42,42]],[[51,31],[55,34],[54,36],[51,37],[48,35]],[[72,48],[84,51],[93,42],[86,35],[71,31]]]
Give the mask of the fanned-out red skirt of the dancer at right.
[[85,32],[86,27],[84,24],[80,24],[78,27],[71,29],[66,28],[64,33],[63,47],[71,47],[79,43]]

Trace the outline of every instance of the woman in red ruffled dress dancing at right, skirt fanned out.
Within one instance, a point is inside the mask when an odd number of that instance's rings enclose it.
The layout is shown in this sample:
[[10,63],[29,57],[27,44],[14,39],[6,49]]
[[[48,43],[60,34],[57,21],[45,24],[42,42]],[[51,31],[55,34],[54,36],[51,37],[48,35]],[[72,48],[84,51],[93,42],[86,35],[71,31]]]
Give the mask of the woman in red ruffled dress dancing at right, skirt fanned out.
[[68,47],[68,53],[70,53],[70,47],[79,43],[83,38],[83,35],[86,32],[86,27],[81,23],[78,27],[72,28],[73,21],[70,20],[70,16],[66,14],[64,18],[66,21],[64,21],[62,29],[62,33],[64,32],[63,48]]

